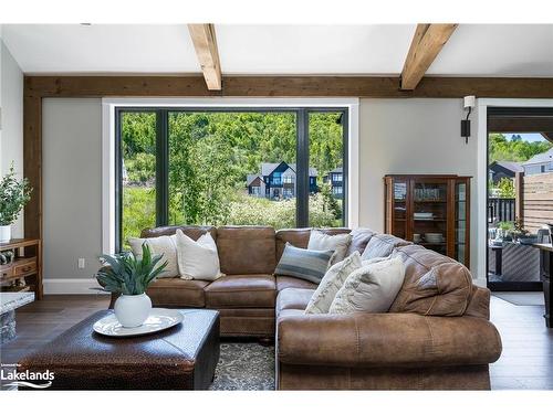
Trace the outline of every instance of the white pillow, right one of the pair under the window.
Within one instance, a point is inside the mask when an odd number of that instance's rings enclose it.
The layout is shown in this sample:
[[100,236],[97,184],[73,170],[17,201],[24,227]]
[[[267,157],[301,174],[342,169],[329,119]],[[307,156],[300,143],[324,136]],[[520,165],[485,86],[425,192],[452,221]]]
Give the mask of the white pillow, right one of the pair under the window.
[[209,232],[195,242],[177,230],[177,258],[181,279],[215,280],[223,276],[217,244]]

